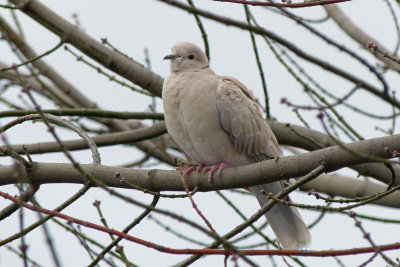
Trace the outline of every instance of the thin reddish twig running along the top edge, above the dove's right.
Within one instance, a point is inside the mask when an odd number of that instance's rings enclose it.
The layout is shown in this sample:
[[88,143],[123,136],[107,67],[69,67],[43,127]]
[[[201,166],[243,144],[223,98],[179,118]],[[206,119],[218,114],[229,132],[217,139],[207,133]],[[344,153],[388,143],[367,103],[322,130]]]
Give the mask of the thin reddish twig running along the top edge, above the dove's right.
[[235,4],[245,4],[251,6],[272,6],[272,7],[289,7],[289,8],[301,8],[301,7],[312,7],[337,4],[342,2],[348,2],[351,0],[321,0],[313,2],[301,2],[301,3],[271,3],[271,2],[260,2],[260,1],[244,1],[244,0],[214,0],[215,2],[227,2]]

